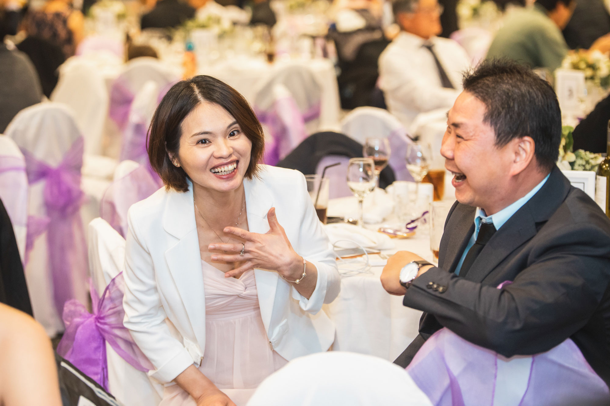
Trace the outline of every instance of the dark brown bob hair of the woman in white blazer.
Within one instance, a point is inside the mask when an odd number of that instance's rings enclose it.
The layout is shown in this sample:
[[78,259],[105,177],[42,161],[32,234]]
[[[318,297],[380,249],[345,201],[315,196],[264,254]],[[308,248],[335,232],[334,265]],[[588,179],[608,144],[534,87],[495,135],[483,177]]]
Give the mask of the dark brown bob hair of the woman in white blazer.
[[252,142],[246,179],[258,172],[265,148],[265,135],[248,101],[234,88],[211,76],[201,75],[173,85],[161,100],[152,116],[148,137],[148,158],[152,169],[159,174],[167,190],[188,191],[188,175],[171,162],[170,154],[178,156],[182,121],[201,102],[223,107]]

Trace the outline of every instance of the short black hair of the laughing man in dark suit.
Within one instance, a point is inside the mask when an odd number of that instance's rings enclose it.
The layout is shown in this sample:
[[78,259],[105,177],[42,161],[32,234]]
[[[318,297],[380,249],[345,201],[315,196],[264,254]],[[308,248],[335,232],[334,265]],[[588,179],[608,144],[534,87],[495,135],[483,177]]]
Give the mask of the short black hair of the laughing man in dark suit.
[[527,135],[534,140],[540,168],[553,168],[561,141],[561,111],[546,80],[517,62],[492,59],[465,74],[464,91],[485,104],[483,121],[493,127],[496,146]]

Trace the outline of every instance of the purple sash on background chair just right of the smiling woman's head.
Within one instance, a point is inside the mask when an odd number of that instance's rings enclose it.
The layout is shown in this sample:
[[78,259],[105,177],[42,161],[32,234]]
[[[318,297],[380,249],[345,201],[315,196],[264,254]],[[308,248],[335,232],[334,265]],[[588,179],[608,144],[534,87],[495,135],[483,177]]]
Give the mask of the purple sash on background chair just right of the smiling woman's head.
[[270,110],[257,111],[256,116],[271,131],[271,140],[265,145],[264,162],[276,165],[307,138],[305,123],[320,116],[320,104],[301,113],[295,99],[287,96],[276,99]]

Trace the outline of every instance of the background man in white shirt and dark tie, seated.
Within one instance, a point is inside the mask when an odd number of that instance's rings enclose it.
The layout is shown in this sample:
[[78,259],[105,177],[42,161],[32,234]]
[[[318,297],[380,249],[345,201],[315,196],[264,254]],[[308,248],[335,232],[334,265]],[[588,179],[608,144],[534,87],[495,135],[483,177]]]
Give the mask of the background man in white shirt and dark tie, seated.
[[379,57],[379,87],[388,110],[409,126],[419,113],[451,107],[470,60],[456,41],[436,37],[436,0],[397,0],[393,12],[402,31]]

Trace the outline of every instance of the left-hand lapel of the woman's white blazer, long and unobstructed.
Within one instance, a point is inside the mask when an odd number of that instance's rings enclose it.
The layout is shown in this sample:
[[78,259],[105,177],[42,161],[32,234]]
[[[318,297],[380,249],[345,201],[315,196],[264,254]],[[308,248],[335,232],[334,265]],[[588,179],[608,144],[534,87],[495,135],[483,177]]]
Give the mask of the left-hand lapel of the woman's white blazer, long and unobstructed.
[[182,297],[195,338],[199,343],[205,343],[206,297],[192,186],[185,193],[169,192],[163,213],[163,229],[178,239],[165,251],[165,260]]

